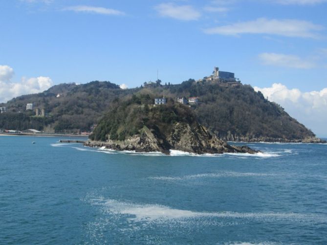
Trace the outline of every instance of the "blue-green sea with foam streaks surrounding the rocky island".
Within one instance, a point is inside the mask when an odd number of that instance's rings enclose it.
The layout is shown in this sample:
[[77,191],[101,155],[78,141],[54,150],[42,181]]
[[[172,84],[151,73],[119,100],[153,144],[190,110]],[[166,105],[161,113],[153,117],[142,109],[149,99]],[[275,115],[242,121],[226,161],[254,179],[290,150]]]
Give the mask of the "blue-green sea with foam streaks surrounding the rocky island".
[[0,244],[327,244],[327,144],[165,156],[60,139],[0,136]]

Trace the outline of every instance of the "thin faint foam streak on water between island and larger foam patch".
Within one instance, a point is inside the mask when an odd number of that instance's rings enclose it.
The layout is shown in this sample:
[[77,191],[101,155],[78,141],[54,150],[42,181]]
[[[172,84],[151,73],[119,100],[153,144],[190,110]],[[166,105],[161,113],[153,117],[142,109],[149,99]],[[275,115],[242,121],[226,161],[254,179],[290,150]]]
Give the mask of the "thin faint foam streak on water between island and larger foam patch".
[[185,175],[185,176],[154,176],[149,177],[151,180],[162,180],[162,181],[184,181],[193,180],[199,178],[222,178],[222,177],[267,177],[276,176],[275,173],[246,173],[246,172],[219,172],[219,173],[203,173],[195,175]]

